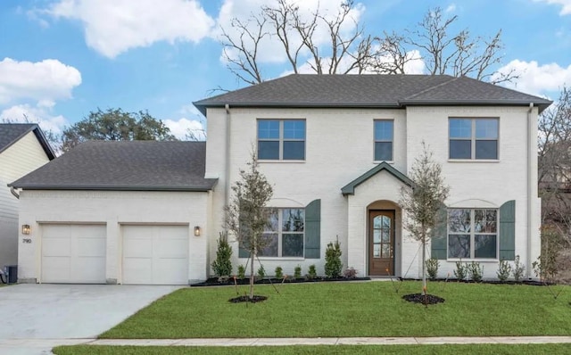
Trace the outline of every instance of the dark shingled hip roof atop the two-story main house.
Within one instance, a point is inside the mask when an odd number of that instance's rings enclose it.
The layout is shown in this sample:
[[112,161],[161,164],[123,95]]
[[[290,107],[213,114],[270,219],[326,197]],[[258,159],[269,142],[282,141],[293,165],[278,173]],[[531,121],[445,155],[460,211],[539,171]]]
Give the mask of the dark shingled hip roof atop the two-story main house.
[[473,78],[449,75],[292,74],[194,103],[208,107],[383,107],[408,105],[529,105],[550,101]]

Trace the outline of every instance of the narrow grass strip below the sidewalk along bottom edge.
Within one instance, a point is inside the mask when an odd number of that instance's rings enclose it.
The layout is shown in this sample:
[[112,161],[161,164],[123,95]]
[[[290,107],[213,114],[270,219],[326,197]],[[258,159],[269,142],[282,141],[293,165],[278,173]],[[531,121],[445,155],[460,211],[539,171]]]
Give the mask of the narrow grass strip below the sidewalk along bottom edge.
[[236,347],[186,347],[186,346],[101,346],[79,345],[55,348],[56,355],[181,355],[181,354],[568,354],[569,344],[468,344],[468,345],[338,345],[338,346],[236,346]]

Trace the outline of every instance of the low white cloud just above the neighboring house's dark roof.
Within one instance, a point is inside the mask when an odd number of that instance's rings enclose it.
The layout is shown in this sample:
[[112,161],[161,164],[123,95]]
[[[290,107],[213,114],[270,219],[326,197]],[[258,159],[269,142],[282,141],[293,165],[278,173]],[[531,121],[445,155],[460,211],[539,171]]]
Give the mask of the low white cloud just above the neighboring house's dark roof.
[[62,128],[68,123],[62,115],[54,116],[46,107],[40,105],[34,107],[28,103],[0,111],[0,120],[38,123],[42,129],[51,130],[56,134],[62,133]]

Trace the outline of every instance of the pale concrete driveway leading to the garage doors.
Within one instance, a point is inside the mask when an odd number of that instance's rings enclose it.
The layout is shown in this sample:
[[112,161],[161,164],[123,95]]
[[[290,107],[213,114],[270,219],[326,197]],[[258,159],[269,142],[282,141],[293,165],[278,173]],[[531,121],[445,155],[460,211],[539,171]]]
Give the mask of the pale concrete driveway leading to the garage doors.
[[[0,287],[0,353],[40,339],[94,338],[180,286],[11,285]],[[62,342],[65,343],[65,342]],[[6,347],[11,347],[7,352]]]

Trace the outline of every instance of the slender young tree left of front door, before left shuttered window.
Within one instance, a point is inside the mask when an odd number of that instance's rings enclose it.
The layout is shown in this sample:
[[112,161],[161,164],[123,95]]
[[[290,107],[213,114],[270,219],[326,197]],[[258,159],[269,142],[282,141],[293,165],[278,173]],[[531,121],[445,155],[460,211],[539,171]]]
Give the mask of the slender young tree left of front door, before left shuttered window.
[[264,235],[269,226],[267,203],[273,195],[268,179],[258,169],[256,154],[247,169],[240,169],[240,179],[232,186],[232,197],[226,206],[225,227],[236,237],[240,248],[250,252],[250,299],[253,298],[256,256],[268,246],[270,238]]

